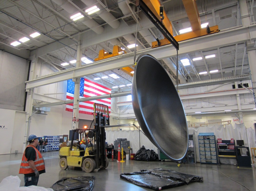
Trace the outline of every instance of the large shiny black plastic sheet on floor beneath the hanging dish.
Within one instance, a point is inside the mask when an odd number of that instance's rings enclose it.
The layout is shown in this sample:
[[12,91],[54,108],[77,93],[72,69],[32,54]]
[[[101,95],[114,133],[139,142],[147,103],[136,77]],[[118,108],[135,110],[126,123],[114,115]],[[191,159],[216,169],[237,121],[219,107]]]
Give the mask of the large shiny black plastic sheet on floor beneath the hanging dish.
[[120,177],[133,184],[153,190],[173,188],[189,184],[191,182],[203,182],[203,177],[201,176],[164,169],[141,170],[141,172],[124,173],[120,174]]

